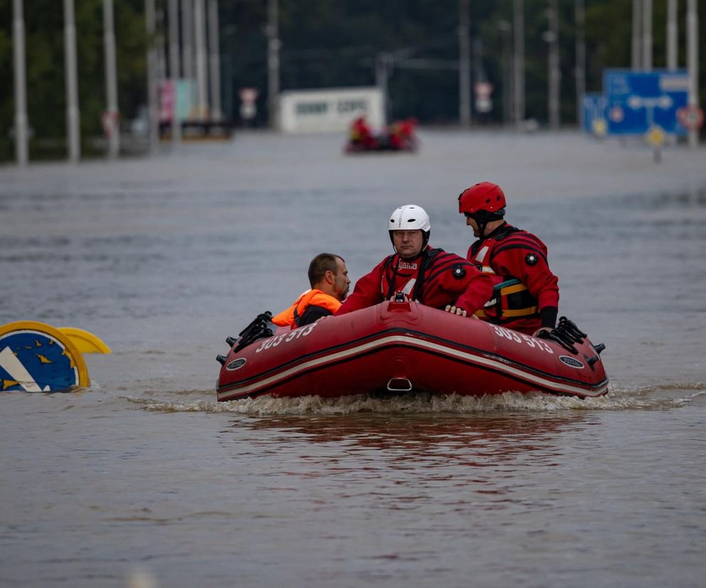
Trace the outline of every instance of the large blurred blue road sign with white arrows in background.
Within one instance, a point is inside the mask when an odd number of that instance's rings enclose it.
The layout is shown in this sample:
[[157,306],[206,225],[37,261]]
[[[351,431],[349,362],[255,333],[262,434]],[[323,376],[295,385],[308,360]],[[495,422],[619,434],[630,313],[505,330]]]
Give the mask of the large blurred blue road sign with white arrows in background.
[[608,134],[643,135],[659,126],[667,134],[686,135],[677,111],[687,104],[688,82],[685,70],[604,70]]

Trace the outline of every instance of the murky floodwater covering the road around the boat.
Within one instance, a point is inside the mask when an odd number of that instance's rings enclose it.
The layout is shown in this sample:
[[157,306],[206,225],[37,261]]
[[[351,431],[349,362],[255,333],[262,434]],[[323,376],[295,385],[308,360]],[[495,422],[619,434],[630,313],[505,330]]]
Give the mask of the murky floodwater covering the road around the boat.
[[[0,324],[94,332],[91,388],[0,393],[0,585],[700,586],[706,572],[705,151],[422,132],[416,155],[242,134],[151,160],[0,168]],[[548,245],[608,398],[217,403],[224,338],[355,280],[386,217],[499,183]]]

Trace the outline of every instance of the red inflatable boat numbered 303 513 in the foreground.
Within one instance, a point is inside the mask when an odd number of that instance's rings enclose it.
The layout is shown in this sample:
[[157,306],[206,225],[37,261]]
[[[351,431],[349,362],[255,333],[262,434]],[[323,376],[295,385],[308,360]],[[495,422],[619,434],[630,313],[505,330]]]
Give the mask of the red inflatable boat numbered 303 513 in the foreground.
[[400,300],[256,338],[273,332],[263,328],[267,317],[227,339],[232,349],[218,357],[219,401],[384,391],[586,398],[608,389],[604,345],[564,318],[551,339],[538,339]]

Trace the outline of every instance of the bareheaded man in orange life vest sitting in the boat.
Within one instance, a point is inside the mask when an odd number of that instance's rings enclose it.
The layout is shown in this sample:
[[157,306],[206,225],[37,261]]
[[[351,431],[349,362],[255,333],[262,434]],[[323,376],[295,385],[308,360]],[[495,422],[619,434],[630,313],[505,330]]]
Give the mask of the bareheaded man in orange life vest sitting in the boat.
[[293,305],[272,317],[272,322],[280,327],[293,328],[309,325],[312,322],[333,315],[348,295],[350,278],[346,263],[341,256],[318,254],[309,264],[307,290]]

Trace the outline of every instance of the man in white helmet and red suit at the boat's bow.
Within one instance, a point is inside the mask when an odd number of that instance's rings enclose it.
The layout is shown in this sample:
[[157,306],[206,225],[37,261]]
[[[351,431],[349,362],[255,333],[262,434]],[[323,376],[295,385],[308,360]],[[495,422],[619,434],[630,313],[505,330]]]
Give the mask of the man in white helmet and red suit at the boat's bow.
[[473,315],[492,294],[492,281],[464,258],[429,244],[431,224],[420,206],[395,209],[387,222],[395,253],[356,283],[336,315],[366,308],[403,292],[412,300]]

